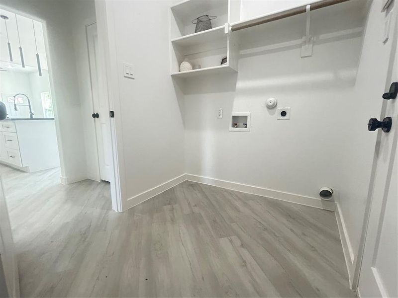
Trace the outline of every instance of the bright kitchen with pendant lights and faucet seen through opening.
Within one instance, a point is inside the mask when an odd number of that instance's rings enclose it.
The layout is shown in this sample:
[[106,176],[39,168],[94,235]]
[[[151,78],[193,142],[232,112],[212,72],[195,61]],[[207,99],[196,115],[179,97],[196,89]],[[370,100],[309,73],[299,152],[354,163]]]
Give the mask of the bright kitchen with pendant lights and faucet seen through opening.
[[0,10],[0,163],[26,172],[59,167],[43,24]]

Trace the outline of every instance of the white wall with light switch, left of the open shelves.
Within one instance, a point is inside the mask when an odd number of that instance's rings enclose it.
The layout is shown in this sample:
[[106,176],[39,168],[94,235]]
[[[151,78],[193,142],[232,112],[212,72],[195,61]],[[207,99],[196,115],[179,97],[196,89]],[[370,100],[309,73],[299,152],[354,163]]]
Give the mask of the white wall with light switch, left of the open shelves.
[[[183,101],[170,77],[170,3],[106,2],[107,73],[115,102],[123,209],[148,198],[137,195],[185,172]],[[135,79],[123,77],[123,63],[133,65]]]

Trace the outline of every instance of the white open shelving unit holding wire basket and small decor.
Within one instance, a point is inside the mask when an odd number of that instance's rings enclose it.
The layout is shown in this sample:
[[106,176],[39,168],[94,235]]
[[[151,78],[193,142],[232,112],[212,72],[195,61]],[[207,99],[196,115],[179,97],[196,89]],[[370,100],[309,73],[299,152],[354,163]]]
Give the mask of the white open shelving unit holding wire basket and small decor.
[[[212,29],[194,33],[193,19],[208,14],[217,16]],[[240,17],[240,0],[184,0],[170,7],[170,72],[173,77],[193,77],[238,71],[238,45],[228,33],[229,23]],[[227,33],[225,33],[227,32]],[[227,63],[221,65],[222,58]],[[180,72],[188,59],[194,70]],[[200,67],[199,69],[195,69]]]

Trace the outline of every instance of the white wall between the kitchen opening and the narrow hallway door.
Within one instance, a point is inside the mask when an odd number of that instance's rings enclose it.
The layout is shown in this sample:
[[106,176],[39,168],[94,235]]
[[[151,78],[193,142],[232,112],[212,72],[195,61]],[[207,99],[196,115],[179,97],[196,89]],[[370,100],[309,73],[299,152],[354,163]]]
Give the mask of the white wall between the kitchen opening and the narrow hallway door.
[[[76,2],[76,3],[73,3]],[[44,21],[48,38],[47,60],[54,90],[51,90],[55,105],[56,127],[61,159],[61,176],[64,183],[88,177],[86,166],[85,136],[83,133],[82,100],[79,93],[77,61],[73,28],[85,18],[87,1],[58,0],[3,0],[4,9]],[[82,5],[82,11],[72,5]],[[83,29],[84,30],[84,29]]]

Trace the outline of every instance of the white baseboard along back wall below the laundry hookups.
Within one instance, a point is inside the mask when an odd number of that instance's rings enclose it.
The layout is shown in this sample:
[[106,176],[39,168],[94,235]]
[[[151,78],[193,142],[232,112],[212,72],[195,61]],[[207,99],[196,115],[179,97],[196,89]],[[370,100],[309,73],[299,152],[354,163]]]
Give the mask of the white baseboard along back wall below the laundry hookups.
[[218,186],[218,187],[222,187],[222,188],[227,188],[227,189],[240,191],[240,192],[244,192],[244,193],[254,194],[254,195],[258,195],[258,196],[262,196],[262,197],[292,202],[292,203],[296,203],[296,204],[300,204],[300,205],[315,207],[315,208],[319,208],[319,209],[330,210],[330,211],[334,211],[335,206],[336,206],[334,202],[323,201],[323,200],[317,199],[317,198],[311,198],[311,197],[291,194],[291,193],[287,193],[287,192],[262,188],[262,187],[258,187],[258,186],[246,185],[246,184],[241,184],[241,183],[236,183],[236,182],[230,182],[230,181],[219,180],[219,179],[214,179],[214,178],[209,178],[209,177],[192,175],[192,174],[186,174],[186,180],[193,181],[193,182],[199,182],[199,183],[203,183],[203,184],[208,184],[208,185],[212,185],[212,186]]

